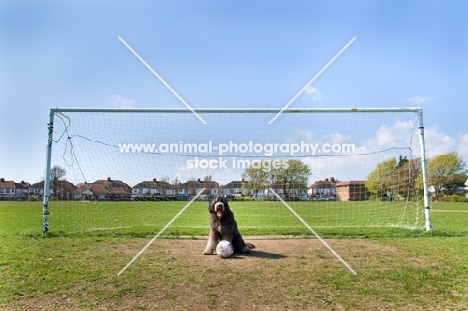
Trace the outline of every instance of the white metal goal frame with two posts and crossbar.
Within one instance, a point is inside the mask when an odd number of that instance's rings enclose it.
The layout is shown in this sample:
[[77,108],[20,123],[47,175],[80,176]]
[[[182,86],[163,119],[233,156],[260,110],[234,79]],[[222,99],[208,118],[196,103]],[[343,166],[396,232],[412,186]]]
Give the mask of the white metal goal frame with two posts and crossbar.
[[[424,215],[425,215],[425,230],[432,230],[432,223],[430,219],[431,207],[429,187],[426,171],[426,150],[424,140],[424,123],[423,123],[423,110],[420,107],[411,108],[302,108],[302,109],[279,109],[279,108],[198,108],[194,109],[197,113],[265,113],[265,114],[289,114],[289,113],[385,113],[385,112],[412,112],[417,115],[418,128],[419,128],[419,145],[421,157],[421,170],[423,178],[423,191],[424,191]],[[49,232],[49,197],[50,197],[50,170],[51,170],[51,156],[52,156],[52,143],[54,131],[54,117],[57,113],[65,112],[84,112],[84,113],[193,113],[190,109],[171,109],[171,108],[50,108],[49,122],[47,123],[48,138],[46,146],[46,165],[44,176],[44,198],[43,198],[43,211],[42,211],[42,234],[47,235]]]

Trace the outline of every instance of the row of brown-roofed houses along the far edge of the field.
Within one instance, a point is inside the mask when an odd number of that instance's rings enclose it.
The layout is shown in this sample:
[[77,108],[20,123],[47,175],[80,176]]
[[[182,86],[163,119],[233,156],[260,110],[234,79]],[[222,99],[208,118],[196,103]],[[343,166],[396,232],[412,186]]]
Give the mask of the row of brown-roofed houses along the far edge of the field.
[[[202,196],[249,196],[261,199],[274,197],[269,189],[282,197],[296,199],[320,199],[320,200],[366,200],[369,192],[365,188],[364,181],[338,182],[335,178],[326,178],[310,185],[307,189],[287,189],[284,184],[276,182],[266,189],[254,193],[249,189],[244,180],[231,181],[220,185],[216,181],[189,180],[185,183],[171,184],[167,181],[153,179],[142,181],[133,187],[121,180],[113,180],[110,177],[97,180],[93,183],[79,183],[74,185],[66,180],[51,183],[51,197],[60,200],[131,200],[138,198],[191,198],[205,188]],[[15,183],[0,179],[0,199],[15,198],[41,198],[44,194],[44,181],[29,184],[22,181]]]

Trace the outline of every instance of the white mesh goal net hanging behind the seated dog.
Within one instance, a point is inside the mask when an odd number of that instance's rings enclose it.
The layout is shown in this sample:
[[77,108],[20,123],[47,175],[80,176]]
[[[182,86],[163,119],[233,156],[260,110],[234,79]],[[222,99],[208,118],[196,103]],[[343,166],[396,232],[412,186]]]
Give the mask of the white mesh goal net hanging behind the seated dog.
[[420,109],[277,112],[51,109],[44,233],[207,235],[217,195],[243,235],[424,228]]

